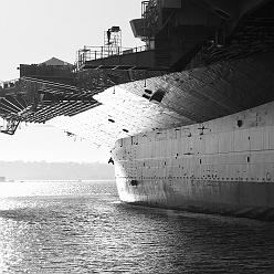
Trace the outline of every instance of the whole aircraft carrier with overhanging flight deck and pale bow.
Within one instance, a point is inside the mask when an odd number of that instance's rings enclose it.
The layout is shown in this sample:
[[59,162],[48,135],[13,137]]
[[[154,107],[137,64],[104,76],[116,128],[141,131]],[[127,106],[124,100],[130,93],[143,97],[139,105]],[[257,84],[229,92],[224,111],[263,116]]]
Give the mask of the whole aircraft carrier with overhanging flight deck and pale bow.
[[274,220],[274,1],[150,0],[75,65],[20,65],[1,131],[49,123],[112,150],[122,201]]

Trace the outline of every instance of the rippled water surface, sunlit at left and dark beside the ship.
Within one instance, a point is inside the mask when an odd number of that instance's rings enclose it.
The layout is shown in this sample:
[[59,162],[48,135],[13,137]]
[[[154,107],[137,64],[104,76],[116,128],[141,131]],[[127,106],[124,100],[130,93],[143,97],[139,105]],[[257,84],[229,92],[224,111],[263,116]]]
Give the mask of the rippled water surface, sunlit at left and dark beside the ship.
[[129,207],[114,182],[1,183],[0,273],[274,273],[274,224]]

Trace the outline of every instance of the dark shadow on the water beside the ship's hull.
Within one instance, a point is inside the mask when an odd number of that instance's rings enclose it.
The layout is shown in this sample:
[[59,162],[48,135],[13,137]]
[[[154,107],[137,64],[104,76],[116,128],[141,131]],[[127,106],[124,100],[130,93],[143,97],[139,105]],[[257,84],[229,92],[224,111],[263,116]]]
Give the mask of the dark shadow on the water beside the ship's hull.
[[[156,242],[161,239],[170,264],[177,265],[175,273],[274,273],[274,223],[125,203],[117,207],[134,219],[147,220],[147,232]],[[135,224],[131,233],[143,229]]]

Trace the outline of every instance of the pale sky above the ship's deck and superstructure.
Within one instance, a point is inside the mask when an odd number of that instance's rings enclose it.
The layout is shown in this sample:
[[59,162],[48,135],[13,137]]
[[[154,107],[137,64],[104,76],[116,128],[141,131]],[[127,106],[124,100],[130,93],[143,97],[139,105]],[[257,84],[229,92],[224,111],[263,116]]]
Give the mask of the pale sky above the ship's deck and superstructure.
[[84,45],[103,45],[104,31],[119,25],[124,46],[139,40],[129,20],[140,17],[141,0],[1,0],[0,80],[18,77],[20,63],[52,56],[74,63]]

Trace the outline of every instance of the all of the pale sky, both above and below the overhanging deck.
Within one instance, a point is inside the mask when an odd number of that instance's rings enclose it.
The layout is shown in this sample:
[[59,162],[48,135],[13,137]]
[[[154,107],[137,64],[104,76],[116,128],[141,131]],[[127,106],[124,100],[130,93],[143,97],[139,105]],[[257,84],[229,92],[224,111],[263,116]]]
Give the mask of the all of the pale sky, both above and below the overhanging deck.
[[[103,45],[104,31],[113,25],[122,29],[123,46],[140,45],[129,25],[129,20],[140,17],[140,8],[141,0],[0,0],[0,81],[19,77],[19,64],[52,56],[74,63],[78,49]],[[107,157],[52,127],[29,125],[14,136],[0,134],[0,160],[104,161]]]

